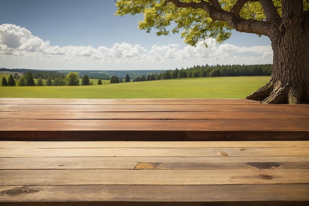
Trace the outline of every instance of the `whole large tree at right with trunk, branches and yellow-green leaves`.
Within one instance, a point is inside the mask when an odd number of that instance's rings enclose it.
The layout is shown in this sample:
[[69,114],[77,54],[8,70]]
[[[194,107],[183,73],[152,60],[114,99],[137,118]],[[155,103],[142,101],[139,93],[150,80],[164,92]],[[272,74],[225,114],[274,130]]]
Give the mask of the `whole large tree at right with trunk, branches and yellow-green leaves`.
[[[309,103],[308,0],[116,0],[116,14],[144,14],[139,28],[182,32],[196,45],[207,37],[224,42],[232,30],[265,35],[273,49],[270,82],[246,98],[270,103]],[[173,23],[173,24],[171,24]],[[189,74],[190,76],[190,74]]]

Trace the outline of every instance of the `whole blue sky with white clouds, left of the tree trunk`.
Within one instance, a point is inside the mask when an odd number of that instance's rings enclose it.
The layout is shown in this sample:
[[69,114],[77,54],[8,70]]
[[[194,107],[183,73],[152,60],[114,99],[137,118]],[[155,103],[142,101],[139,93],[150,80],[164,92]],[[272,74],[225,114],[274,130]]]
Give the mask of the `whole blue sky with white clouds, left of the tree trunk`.
[[143,15],[115,16],[114,0],[1,0],[0,68],[169,70],[194,65],[271,64],[268,37],[233,32],[194,46],[180,34],[138,29]]

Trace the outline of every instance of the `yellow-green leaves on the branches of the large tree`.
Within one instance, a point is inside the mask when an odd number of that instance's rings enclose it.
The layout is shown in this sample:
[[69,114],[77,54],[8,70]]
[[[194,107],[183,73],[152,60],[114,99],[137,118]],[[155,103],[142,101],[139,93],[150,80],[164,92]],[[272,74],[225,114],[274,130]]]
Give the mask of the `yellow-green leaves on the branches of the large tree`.
[[[144,14],[144,19],[139,21],[139,28],[147,33],[155,30],[156,35],[169,35],[170,33],[181,33],[184,42],[189,45],[196,45],[198,41],[206,38],[214,38],[222,43],[231,37],[231,31],[236,22],[248,20],[265,21],[265,13],[259,1],[246,1],[236,13],[234,5],[239,0],[218,0],[218,7],[215,3],[207,0],[180,0],[176,5],[172,0],[115,0],[116,15]],[[215,0],[214,0],[215,2]],[[279,16],[281,14],[282,0],[273,0],[273,4]],[[309,9],[308,0],[303,0],[304,11]],[[202,6],[200,6],[202,5]],[[220,8],[220,7],[221,8]],[[210,17],[210,13],[216,17]],[[228,23],[229,22],[229,23]],[[238,28],[239,29],[239,28]],[[238,30],[237,30],[238,31]],[[242,32],[257,33],[259,30],[243,28]],[[207,46],[207,45],[206,45]]]

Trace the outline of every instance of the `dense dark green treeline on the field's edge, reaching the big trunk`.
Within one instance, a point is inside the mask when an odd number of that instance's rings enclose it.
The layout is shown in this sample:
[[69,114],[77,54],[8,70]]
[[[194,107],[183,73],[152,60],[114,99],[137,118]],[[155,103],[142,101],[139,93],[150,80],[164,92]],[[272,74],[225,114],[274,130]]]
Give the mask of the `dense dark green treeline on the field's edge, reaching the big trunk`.
[[167,80],[177,78],[194,78],[194,77],[233,77],[233,76],[270,76],[272,64],[263,65],[215,65],[215,66],[193,66],[187,69],[167,70],[160,74],[149,74],[138,76],[135,82],[151,80]]

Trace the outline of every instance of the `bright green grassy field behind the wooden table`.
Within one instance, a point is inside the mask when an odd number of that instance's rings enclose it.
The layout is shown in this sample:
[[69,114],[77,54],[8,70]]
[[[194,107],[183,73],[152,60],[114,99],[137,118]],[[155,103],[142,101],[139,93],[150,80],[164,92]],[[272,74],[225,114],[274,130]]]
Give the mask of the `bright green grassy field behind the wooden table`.
[[[1,86],[0,97],[244,98],[270,77],[186,78],[88,86]],[[95,80],[97,83],[97,80]]]

